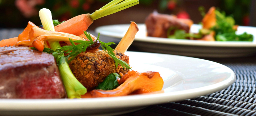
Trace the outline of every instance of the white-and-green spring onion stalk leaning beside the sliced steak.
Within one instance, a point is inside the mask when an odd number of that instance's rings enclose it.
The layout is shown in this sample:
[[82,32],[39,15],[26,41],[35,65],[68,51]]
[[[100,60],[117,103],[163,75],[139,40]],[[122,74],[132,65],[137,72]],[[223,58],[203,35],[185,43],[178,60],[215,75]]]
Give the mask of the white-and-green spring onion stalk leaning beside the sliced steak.
[[[52,13],[49,9],[41,9],[39,16],[45,30],[55,31],[52,19]],[[52,50],[57,50],[61,47],[59,41],[49,41]],[[59,63],[58,68],[66,90],[68,98],[81,98],[81,95],[87,92],[86,88],[75,78],[71,72],[68,63],[65,60],[64,54],[60,54],[55,58]]]

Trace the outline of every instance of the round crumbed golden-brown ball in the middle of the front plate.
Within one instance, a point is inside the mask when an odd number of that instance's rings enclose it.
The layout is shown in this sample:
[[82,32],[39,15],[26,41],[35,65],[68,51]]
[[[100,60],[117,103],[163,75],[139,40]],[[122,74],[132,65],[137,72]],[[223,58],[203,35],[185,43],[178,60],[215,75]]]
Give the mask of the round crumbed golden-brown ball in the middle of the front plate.
[[[117,58],[129,64],[128,56],[117,50],[115,54]],[[97,87],[111,73],[126,74],[129,71],[120,65],[115,68],[115,61],[103,50],[98,50],[95,53],[80,53],[70,62],[69,67],[76,79],[87,90]]]

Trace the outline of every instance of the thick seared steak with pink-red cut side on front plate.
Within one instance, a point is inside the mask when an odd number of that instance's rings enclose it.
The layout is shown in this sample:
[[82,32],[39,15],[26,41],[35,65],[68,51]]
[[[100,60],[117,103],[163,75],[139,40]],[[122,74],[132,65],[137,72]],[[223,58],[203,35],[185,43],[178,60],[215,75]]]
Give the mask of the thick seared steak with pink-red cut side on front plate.
[[64,98],[54,57],[29,47],[0,47],[0,98]]

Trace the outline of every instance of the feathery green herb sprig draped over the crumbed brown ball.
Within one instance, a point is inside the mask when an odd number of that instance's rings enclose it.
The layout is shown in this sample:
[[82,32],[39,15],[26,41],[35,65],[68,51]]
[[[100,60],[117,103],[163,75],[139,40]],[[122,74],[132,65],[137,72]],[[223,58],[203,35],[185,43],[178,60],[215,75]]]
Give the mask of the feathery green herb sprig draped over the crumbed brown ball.
[[[69,38],[71,45],[58,47],[58,49],[55,51],[50,48],[44,48],[44,52],[52,54],[55,58],[58,58],[58,56],[62,55],[63,53],[68,54],[64,57],[60,57],[57,63],[60,64],[65,59],[65,61],[67,61],[67,63],[69,64],[75,58],[75,56],[77,56],[78,54],[80,54],[82,52],[85,52],[87,47],[91,46],[92,44],[94,44],[94,42],[99,40],[99,33],[98,33],[98,37],[95,41],[92,40],[92,38],[90,36],[90,32],[87,33],[86,31],[84,31],[84,34],[89,39],[89,41],[83,41],[83,40],[73,41],[72,39]],[[80,43],[80,44],[75,45],[74,42]],[[118,67],[118,64],[120,64],[123,68],[131,69],[129,64],[118,59],[115,56],[114,49],[109,46],[111,44],[115,44],[114,42],[105,43],[105,42],[102,42],[101,40],[99,40],[99,42],[101,44],[102,49],[109,56],[111,56],[113,58],[113,60],[115,61],[116,68]],[[32,49],[36,49],[36,48],[32,48]]]

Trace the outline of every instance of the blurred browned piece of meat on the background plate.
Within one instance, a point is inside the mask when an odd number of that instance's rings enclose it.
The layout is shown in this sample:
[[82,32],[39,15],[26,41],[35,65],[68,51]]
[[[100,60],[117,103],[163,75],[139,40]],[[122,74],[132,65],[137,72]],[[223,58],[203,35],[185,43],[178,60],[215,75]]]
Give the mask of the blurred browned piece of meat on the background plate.
[[[193,22],[189,19],[178,19],[173,15],[158,14],[157,12],[154,12],[146,18],[145,24],[148,36],[167,38],[167,31],[170,27],[189,32]],[[174,31],[170,32],[170,35],[172,34],[174,34]]]

